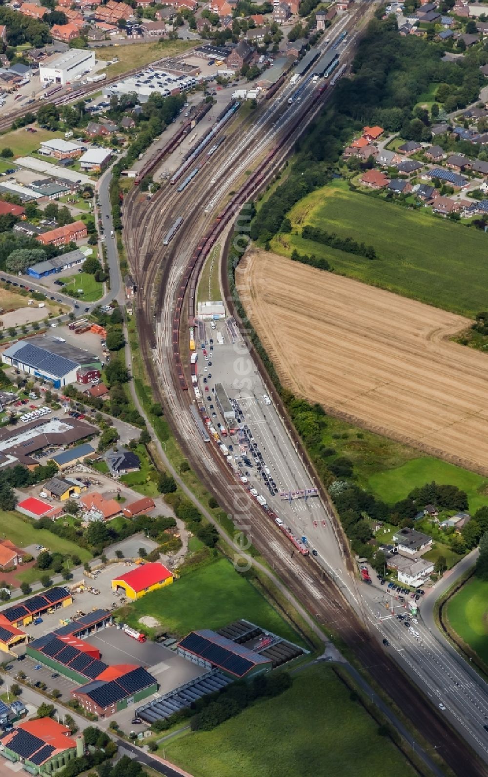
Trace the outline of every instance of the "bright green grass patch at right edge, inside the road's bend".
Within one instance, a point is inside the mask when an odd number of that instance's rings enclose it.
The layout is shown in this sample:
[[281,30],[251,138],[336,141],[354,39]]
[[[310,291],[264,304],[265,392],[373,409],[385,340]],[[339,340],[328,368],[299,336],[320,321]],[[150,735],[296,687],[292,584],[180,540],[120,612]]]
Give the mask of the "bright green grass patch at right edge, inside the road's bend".
[[447,615],[452,629],[488,664],[488,581],[472,577],[449,599]]

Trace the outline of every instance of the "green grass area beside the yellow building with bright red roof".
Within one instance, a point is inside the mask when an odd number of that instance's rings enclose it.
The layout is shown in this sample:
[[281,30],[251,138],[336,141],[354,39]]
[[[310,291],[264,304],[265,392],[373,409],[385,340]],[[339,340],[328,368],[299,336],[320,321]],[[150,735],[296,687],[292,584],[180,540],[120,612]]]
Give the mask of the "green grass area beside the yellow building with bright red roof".
[[292,642],[299,642],[292,627],[227,559],[183,575],[169,587],[146,594],[122,612],[134,627],[140,625],[139,618],[143,615],[153,615],[173,636],[184,636],[192,629],[220,629],[237,618],[247,618]]

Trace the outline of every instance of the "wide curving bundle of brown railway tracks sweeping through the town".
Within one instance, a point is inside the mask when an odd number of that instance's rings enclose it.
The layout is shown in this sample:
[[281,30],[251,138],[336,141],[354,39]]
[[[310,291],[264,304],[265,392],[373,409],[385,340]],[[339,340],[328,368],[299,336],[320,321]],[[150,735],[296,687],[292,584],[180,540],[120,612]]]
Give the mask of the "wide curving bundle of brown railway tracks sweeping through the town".
[[[317,102],[320,104],[320,101]],[[313,114],[313,110],[310,113]],[[303,116],[300,119],[303,131],[306,122]],[[269,158],[261,162],[258,172],[237,191],[217,221],[210,215],[206,216],[202,210],[202,192],[211,192],[220,185],[214,180],[215,171],[240,148],[242,139],[235,136],[217,149],[211,166],[204,166],[199,173],[198,183],[189,186],[182,194],[178,194],[175,187],[166,186],[152,197],[150,204],[140,197],[137,190],[127,195],[124,236],[131,271],[138,287],[137,327],[147,375],[154,398],[163,404],[168,422],[182,441],[193,469],[202,482],[209,483],[220,504],[230,514],[244,512],[253,545],[265,558],[273,560],[275,572],[287,581],[290,591],[320,623],[328,625],[354,651],[362,667],[403,709],[414,726],[423,731],[456,774],[473,777],[488,775],[488,770],[476,754],[466,747],[457,733],[448,729],[445,720],[380,648],[341,592],[337,591],[333,581],[324,575],[324,570],[312,558],[290,553],[286,538],[258,504],[237,488],[229,469],[222,457],[213,451],[213,446],[206,445],[196,434],[189,413],[191,401],[189,392],[185,390],[183,368],[188,341],[185,322],[187,315],[193,315],[196,279],[201,264],[213,242],[230,224],[236,208],[265,185],[275,162],[283,159],[299,131],[300,127],[293,125],[286,137],[283,133],[276,139],[277,145],[271,152],[268,151]],[[253,143],[256,144],[255,138],[249,144],[250,149]],[[220,179],[225,179],[226,175],[223,172]],[[163,236],[178,215],[184,220],[178,239],[163,247]],[[199,235],[204,237],[199,239]]]

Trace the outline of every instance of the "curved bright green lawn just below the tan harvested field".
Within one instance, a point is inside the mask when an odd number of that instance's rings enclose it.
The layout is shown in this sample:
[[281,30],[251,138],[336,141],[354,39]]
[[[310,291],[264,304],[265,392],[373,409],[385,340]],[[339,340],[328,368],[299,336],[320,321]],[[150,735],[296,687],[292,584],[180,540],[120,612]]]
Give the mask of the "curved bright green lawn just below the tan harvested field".
[[415,486],[423,486],[433,480],[466,491],[471,513],[488,504],[488,493],[485,493],[488,481],[485,478],[431,456],[412,458],[401,467],[377,472],[369,477],[369,487],[377,497],[393,504],[407,497]]

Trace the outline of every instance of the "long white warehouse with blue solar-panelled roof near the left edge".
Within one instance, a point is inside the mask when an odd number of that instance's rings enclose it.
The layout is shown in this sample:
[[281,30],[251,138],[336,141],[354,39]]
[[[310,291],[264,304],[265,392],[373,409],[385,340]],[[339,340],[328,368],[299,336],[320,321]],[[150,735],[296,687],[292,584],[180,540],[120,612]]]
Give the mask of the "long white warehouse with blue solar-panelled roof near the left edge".
[[46,336],[33,337],[29,343],[19,340],[3,352],[2,361],[49,381],[54,389],[76,382],[76,373],[81,367],[102,367],[94,354]]

